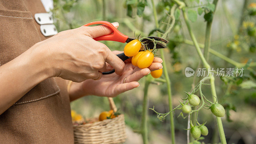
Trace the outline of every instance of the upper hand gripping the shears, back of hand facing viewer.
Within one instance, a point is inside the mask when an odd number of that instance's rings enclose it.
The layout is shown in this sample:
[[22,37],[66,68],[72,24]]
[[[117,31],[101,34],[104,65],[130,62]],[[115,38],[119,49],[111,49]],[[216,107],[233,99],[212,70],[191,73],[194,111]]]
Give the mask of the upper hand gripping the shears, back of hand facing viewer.
[[[118,27],[118,23],[112,23]],[[44,54],[43,59],[50,71],[49,77],[58,76],[74,82],[98,79],[99,71],[106,71],[110,64],[116,74],[122,74],[124,62],[95,37],[111,34],[112,30],[100,25],[66,30],[35,44],[34,49]]]

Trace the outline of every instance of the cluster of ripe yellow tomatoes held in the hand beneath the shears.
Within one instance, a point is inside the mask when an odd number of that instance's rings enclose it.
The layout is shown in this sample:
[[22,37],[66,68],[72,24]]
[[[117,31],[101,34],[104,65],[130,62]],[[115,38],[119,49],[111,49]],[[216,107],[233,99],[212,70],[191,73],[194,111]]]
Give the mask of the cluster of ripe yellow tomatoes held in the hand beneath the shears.
[[[128,57],[132,57],[132,65],[139,68],[148,68],[153,60],[154,54],[152,51],[141,51],[141,42],[138,39],[134,39],[124,47],[124,54]],[[151,72],[154,78],[158,78],[162,75],[163,69],[155,70]]]

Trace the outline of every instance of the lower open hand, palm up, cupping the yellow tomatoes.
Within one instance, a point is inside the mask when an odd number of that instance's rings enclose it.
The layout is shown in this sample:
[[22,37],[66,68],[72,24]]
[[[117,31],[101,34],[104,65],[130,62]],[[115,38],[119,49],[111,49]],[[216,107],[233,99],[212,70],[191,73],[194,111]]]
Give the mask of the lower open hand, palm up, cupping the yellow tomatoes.
[[[121,52],[114,51],[113,53],[118,54]],[[78,99],[84,95],[115,97],[122,92],[132,90],[140,86],[137,82],[140,78],[148,75],[150,71],[163,68],[162,62],[163,60],[161,58],[155,57],[150,67],[140,69],[133,66],[129,59],[125,62],[124,71],[121,75],[113,73],[103,75],[102,78],[97,81],[88,79],[82,83],[73,83],[69,91],[70,100]],[[113,68],[108,66],[107,71],[111,69]]]

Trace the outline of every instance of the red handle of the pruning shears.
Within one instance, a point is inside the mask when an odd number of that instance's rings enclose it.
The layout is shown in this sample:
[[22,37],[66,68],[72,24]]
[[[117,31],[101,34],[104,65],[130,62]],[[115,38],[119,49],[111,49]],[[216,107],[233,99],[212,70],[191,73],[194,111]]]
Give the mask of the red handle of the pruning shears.
[[104,24],[113,30],[113,34],[94,38],[94,40],[96,40],[96,41],[107,40],[107,41],[116,41],[116,42],[125,43],[125,41],[128,38],[128,36],[125,36],[124,34],[122,34],[120,31],[117,30],[116,27],[114,27],[108,21],[94,21],[94,22],[87,23],[84,26],[90,26],[90,25],[95,25],[95,24]]

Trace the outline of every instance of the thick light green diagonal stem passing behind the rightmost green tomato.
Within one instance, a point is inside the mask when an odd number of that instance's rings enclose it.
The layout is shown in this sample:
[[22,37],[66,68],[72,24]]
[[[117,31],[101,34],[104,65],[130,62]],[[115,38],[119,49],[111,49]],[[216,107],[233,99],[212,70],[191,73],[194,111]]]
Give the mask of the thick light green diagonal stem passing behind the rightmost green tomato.
[[[190,24],[189,24],[189,21],[188,21],[188,16],[187,16],[187,13],[185,12],[184,9],[182,9],[182,13],[183,13],[183,16],[184,16],[184,20],[186,22],[186,25],[187,25],[187,28],[188,28],[188,32],[189,32],[189,35],[196,47],[196,51],[200,57],[200,59],[202,60],[203,64],[204,64],[204,67],[206,69],[210,69],[210,65],[207,63],[207,61],[205,60],[204,56],[203,56],[203,53],[202,51],[200,50],[200,47],[199,47],[199,44],[196,40],[196,37],[194,35],[194,33],[192,32],[191,28],[190,28]],[[214,76],[212,74],[211,76],[211,79],[210,79],[210,83],[211,83],[211,91],[212,91],[212,95],[213,95],[213,100],[216,100],[217,98],[217,94],[216,94],[216,89],[215,89],[215,84],[214,84]],[[203,98],[202,98],[203,99]],[[216,101],[217,102],[217,101]],[[220,135],[220,141],[222,144],[226,144],[226,138],[225,138],[225,133],[224,133],[224,129],[223,129],[223,125],[222,125],[222,121],[221,121],[221,118],[220,117],[216,117],[216,121],[217,121],[217,125],[218,125],[218,130],[219,130],[219,135]]]

